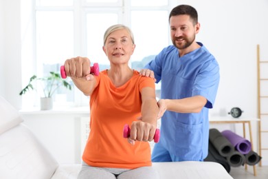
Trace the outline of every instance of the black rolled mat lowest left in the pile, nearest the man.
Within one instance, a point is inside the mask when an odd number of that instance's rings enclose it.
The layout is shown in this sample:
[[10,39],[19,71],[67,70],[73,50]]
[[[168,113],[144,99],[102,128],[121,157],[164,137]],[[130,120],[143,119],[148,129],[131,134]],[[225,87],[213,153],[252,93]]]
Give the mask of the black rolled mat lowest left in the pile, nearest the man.
[[208,143],[208,156],[204,159],[204,161],[218,162],[219,164],[223,165],[228,173],[231,171],[230,164],[227,162],[226,158],[219,154],[210,141]]

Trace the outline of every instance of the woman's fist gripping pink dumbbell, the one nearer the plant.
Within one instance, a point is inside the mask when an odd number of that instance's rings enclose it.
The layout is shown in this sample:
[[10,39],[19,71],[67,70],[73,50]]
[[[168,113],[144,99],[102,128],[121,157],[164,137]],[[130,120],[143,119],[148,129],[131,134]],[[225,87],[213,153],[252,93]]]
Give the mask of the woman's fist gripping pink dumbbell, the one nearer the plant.
[[87,81],[93,79],[90,73],[90,60],[87,57],[77,56],[67,59],[64,63],[65,72],[71,78],[85,78]]

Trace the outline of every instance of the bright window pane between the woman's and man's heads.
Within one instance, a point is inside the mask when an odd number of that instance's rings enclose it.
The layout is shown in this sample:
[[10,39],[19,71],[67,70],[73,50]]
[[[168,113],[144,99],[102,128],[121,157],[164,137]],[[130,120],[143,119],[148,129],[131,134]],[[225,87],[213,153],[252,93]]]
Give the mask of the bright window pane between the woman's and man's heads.
[[133,10],[131,29],[136,44],[131,60],[142,61],[148,56],[156,55],[168,45],[168,11]]

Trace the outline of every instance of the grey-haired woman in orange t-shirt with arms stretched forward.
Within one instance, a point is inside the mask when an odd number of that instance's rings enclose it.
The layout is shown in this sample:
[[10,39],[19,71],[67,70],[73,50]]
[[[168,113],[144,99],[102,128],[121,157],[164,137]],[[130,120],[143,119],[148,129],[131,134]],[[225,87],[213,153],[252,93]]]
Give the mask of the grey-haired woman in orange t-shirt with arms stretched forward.
[[[153,140],[157,127],[155,81],[129,67],[135,43],[125,25],[107,29],[102,49],[110,69],[99,76],[90,73],[91,62],[85,57],[65,61],[67,76],[90,96],[91,131],[78,178],[159,178],[151,167],[147,143]],[[125,124],[131,125],[127,140],[122,136]]]

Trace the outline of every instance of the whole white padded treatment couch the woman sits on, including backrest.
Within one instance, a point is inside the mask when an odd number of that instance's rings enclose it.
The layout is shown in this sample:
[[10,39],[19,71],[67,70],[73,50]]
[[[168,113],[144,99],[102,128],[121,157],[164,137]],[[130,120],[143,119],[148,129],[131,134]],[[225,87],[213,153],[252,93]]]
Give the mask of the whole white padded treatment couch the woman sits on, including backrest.
[[[49,130],[49,129],[48,129]],[[154,162],[160,178],[232,178],[217,162]],[[0,96],[0,178],[77,178],[80,164],[56,161],[24,123],[19,112]]]

